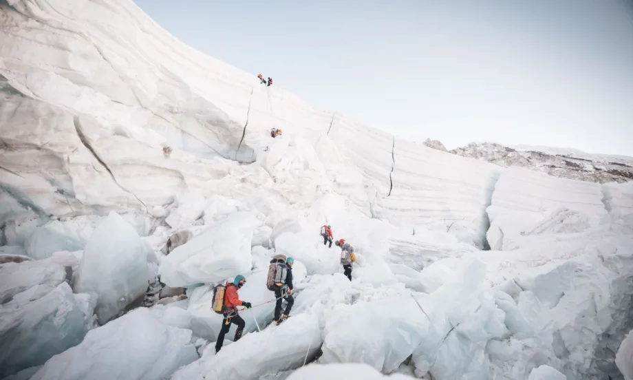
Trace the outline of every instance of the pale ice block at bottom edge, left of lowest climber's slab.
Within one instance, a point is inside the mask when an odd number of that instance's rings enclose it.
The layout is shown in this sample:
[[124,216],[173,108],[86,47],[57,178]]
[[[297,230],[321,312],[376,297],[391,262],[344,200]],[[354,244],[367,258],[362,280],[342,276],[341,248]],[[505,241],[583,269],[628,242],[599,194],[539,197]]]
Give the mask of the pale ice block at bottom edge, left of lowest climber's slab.
[[165,379],[197,359],[190,341],[190,330],[166,326],[139,308],[89,331],[81,344],[47,361],[31,379]]

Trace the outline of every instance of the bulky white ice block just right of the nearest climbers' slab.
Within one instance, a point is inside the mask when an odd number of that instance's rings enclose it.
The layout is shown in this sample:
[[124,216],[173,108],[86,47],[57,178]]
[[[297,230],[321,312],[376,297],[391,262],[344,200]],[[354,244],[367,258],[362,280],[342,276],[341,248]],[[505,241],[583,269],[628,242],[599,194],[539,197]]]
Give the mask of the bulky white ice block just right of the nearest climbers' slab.
[[393,372],[425,339],[425,315],[411,297],[341,307],[323,335],[322,363],[367,363]]

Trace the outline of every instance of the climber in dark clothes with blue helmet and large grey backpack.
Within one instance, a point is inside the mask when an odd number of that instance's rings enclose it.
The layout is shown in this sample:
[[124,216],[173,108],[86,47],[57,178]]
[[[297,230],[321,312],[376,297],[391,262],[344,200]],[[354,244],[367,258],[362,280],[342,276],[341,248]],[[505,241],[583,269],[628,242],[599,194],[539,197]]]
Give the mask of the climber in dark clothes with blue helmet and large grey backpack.
[[[286,259],[285,255],[275,255],[270,260],[268,267],[268,277],[266,286],[269,291],[275,292],[275,324],[281,324],[290,315],[290,310],[294,304],[292,297],[292,256]],[[283,299],[286,299],[286,310],[281,313]]]

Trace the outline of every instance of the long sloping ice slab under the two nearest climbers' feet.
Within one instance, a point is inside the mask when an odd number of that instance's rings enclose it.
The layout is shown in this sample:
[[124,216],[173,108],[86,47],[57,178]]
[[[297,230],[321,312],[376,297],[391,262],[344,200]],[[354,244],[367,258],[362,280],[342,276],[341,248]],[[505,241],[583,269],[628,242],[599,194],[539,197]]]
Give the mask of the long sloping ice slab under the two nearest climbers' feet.
[[279,326],[272,325],[256,334],[244,335],[234,344],[225,344],[217,355],[212,346],[200,360],[175,372],[172,379],[259,379],[264,374],[298,368],[306,356],[308,360],[314,358],[320,346],[317,317],[296,315]]

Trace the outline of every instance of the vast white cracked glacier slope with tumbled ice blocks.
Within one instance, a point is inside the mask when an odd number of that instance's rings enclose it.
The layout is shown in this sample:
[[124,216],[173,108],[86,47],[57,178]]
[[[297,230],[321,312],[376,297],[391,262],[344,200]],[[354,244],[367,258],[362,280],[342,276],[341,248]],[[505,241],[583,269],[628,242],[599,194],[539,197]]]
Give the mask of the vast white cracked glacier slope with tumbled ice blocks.
[[[8,340],[2,376],[631,376],[631,182],[357,123],[193,50],[129,0],[0,1],[0,34],[0,319],[31,329]],[[351,282],[323,224],[356,249]],[[275,253],[296,259],[279,326]],[[212,289],[237,274],[257,307],[215,355]],[[186,296],[137,310],[154,276]]]

